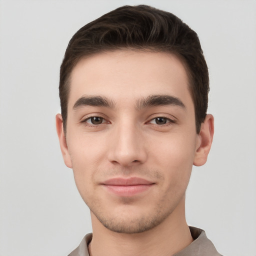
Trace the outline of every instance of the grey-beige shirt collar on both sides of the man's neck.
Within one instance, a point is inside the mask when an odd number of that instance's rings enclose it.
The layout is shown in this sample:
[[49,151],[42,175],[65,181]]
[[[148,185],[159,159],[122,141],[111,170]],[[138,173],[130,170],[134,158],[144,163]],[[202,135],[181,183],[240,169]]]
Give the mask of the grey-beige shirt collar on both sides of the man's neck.
[[[221,256],[202,229],[193,226],[189,226],[189,229],[194,241],[173,256]],[[86,234],[80,245],[68,256],[89,256],[88,244],[91,238],[92,233]]]

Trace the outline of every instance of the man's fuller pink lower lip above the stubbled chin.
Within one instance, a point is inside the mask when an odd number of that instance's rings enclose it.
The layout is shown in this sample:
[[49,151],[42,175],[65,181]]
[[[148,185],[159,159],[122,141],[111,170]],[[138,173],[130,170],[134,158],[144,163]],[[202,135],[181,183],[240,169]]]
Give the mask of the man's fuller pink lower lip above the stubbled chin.
[[104,185],[110,192],[119,196],[132,196],[148,190],[153,184],[148,185],[130,185],[130,186],[115,186]]

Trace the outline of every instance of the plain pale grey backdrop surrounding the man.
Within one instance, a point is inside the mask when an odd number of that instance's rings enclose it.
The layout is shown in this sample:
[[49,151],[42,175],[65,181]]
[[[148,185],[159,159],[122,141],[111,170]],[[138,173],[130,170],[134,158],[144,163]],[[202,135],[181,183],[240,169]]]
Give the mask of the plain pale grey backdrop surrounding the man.
[[141,3],[194,29],[209,67],[215,135],[187,222],[225,256],[256,255],[255,0],[0,0],[0,256],[65,256],[91,231],[55,132],[59,66],[78,28]]

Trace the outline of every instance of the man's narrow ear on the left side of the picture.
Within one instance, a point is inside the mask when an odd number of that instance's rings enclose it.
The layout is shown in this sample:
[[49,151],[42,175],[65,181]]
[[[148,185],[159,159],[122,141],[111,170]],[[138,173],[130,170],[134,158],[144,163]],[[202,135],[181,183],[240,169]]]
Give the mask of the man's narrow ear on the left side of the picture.
[[55,119],[56,119],[56,130],[58,134],[59,145],[60,145],[61,153],[64,159],[64,163],[67,167],[72,168],[72,162],[71,162],[70,155],[68,153],[61,114],[56,114]]

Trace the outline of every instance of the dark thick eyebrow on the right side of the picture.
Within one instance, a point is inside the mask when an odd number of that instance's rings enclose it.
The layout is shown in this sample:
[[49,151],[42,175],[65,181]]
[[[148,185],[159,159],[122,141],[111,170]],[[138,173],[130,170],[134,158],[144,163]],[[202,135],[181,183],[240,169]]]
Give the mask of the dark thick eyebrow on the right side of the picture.
[[136,107],[138,109],[148,106],[160,106],[160,105],[176,105],[185,108],[182,101],[171,95],[150,95],[146,98],[140,98],[137,100]]

